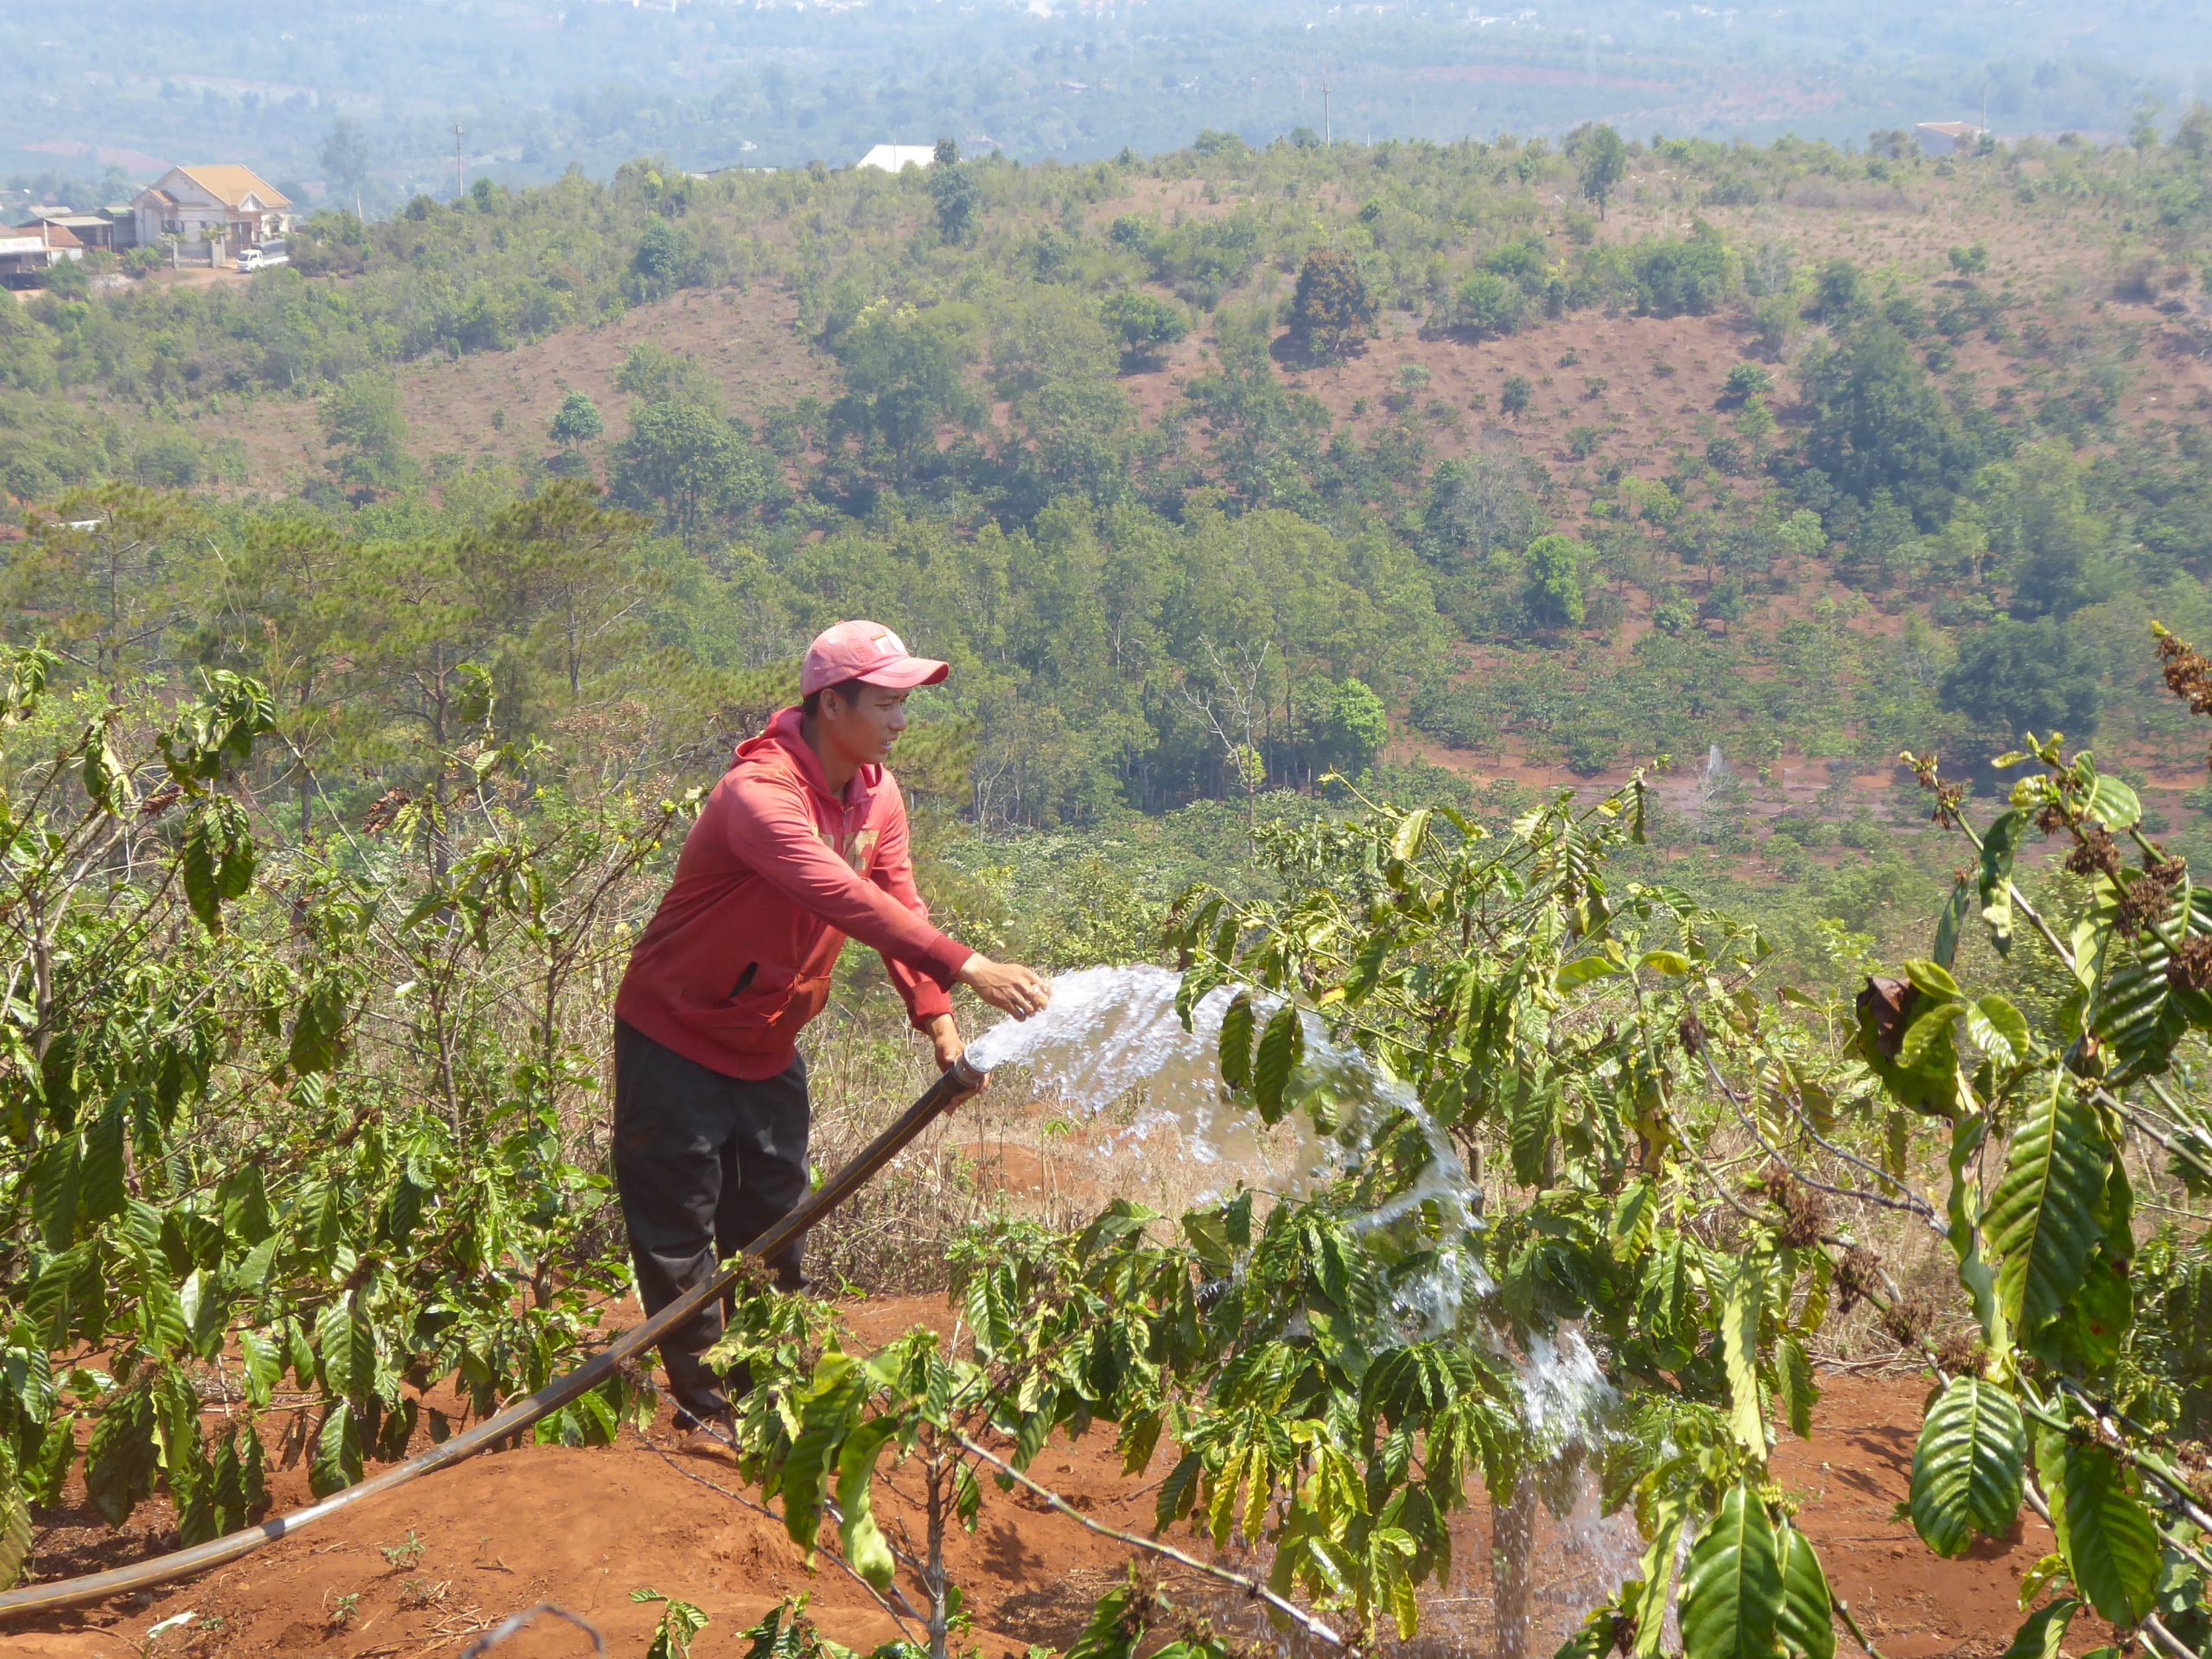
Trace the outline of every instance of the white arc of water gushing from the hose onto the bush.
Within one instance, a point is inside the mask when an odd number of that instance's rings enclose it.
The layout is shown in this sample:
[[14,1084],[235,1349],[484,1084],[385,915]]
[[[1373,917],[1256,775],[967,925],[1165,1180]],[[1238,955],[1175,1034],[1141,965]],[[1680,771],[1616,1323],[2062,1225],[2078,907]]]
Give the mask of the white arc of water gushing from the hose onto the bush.
[[[969,1060],[984,1068],[1024,1066],[1042,1093],[1097,1124],[1110,1108],[1126,1121],[1108,1146],[1166,1148],[1203,1166],[1219,1183],[1199,1201],[1225,1197],[1245,1181],[1276,1192],[1358,1175],[1385,1126],[1411,1119],[1429,1161],[1400,1192],[1352,1219],[1354,1230],[1380,1230],[1420,1219],[1436,1239],[1433,1263],[1398,1294],[1407,1340],[1458,1327],[1469,1303],[1491,1292],[1478,1256],[1482,1192],[1469,1179],[1451,1139],[1422,1113],[1413,1091],[1358,1048],[1332,1042],[1321,1020],[1305,1015],[1305,1055],[1294,1082],[1296,1106],[1276,1130],[1256,1113],[1225,1099],[1219,1071],[1221,1015],[1234,998],[1219,989],[1192,1009],[1190,1029],[1175,1011],[1179,978],[1161,967],[1091,967],[1053,980],[1051,1006],[1033,1020],[1002,1020],[969,1044]],[[1256,998],[1261,1020],[1272,998]],[[1325,1126],[1325,1128],[1323,1128]],[[1511,1566],[1531,1588],[1520,1639],[1531,1650],[1551,1635],[1555,1644],[1582,1613],[1613,1595],[1635,1571],[1641,1540],[1628,1515],[1601,1515],[1597,1462],[1617,1402],[1597,1354],[1573,1327],[1528,1336],[1515,1352],[1493,1338],[1509,1360],[1531,1436],[1531,1480],[1542,1489],[1544,1517],[1528,1517],[1528,1559]],[[1489,1551],[1455,1551],[1486,1559]],[[1444,1604],[1484,1597],[1440,1595]],[[1458,1624],[1442,1617],[1447,1635]],[[1537,1624],[1544,1628],[1540,1630]],[[1504,1632],[1493,1632],[1504,1635]],[[1460,1628],[1453,1646],[1480,1646]],[[1451,1639],[1451,1635],[1447,1635]],[[1425,1644],[1427,1646],[1427,1644]]]

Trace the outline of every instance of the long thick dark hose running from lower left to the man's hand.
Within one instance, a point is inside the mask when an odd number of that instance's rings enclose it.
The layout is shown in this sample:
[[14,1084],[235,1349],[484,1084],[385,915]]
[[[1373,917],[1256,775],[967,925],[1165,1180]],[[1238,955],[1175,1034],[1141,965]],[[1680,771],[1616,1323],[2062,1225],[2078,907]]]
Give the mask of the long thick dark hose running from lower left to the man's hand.
[[88,1601],[104,1601],[111,1595],[144,1590],[155,1584],[168,1584],[173,1579],[190,1577],[192,1573],[204,1573],[206,1568],[221,1566],[223,1562],[234,1562],[241,1555],[252,1555],[265,1544],[274,1544],[279,1537],[292,1537],[292,1533],[314,1526],[314,1522],[336,1515],[341,1509],[349,1509],[352,1504],[376,1498],[378,1493],[387,1493],[394,1486],[405,1486],[422,1475],[434,1475],[440,1469],[449,1469],[456,1462],[473,1458],[478,1451],[484,1451],[511,1433],[529,1429],[549,1411],[560,1411],[577,1396],[599,1387],[599,1383],[611,1378],[615,1367],[624,1360],[653,1347],[661,1340],[661,1336],[697,1314],[714,1296],[721,1296],[739,1279],[739,1274],[745,1272],[743,1263],[772,1256],[792,1239],[799,1239],[810,1228],[818,1225],[823,1217],[858,1192],[876,1170],[889,1164],[898,1150],[920,1135],[947,1106],[964,1095],[973,1095],[982,1086],[982,1079],[984,1075],[969,1066],[967,1060],[953,1062],[953,1068],[938,1077],[938,1082],[933,1082],[929,1091],[898,1117],[896,1124],[869,1141],[867,1148],[852,1159],[852,1164],[823,1181],[796,1210],[745,1245],[734,1265],[723,1267],[703,1285],[684,1292],[644,1325],[633,1325],[608,1347],[599,1349],[580,1367],[568,1371],[568,1376],[553,1378],[538,1389],[538,1394],[515,1400],[498,1416],[484,1418],[473,1429],[447,1440],[442,1447],[416,1453],[407,1462],[394,1464],[380,1475],[363,1480],[358,1486],[332,1493],[319,1504],[294,1509],[290,1515],[272,1515],[259,1526],[248,1526],[243,1531],[228,1533],[226,1537],[210,1537],[206,1544],[192,1544],[190,1548],[181,1548],[170,1555],[155,1555],[148,1562],[133,1562],[131,1566],[113,1566],[106,1573],[91,1573],[80,1579],[27,1584],[20,1590],[9,1590],[7,1595],[0,1595],[0,1619],[20,1613],[77,1608]]

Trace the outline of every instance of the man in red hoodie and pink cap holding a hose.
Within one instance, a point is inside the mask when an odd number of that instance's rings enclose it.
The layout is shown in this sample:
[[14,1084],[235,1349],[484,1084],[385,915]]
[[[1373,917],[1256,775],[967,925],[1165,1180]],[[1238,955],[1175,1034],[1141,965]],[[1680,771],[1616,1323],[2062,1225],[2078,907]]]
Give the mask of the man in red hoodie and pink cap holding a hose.
[[[907,695],[947,664],[889,628],[841,622],[807,646],[801,706],[737,748],[684,838],[677,876],[615,995],[615,1186],[637,1292],[655,1314],[807,1194],[807,1068],[799,1033],[830,1000],[845,938],[883,953],[938,1066],[960,1057],[947,991],[1018,1020],[1051,1000],[1024,967],[929,925],[907,807],[885,759]],[[794,1241],[768,1267],[805,1283]],[[661,1343],[686,1447],[712,1451],[730,1400],[703,1354],[710,1305]]]

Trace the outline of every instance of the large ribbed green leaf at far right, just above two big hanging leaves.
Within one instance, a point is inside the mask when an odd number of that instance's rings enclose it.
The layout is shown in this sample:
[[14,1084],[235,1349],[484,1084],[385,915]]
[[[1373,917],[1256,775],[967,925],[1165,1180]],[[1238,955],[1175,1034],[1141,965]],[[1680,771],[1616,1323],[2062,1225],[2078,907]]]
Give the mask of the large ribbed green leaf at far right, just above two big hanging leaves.
[[2097,1248],[2097,1199],[2110,1144],[2088,1099],[2066,1073],[2053,1073],[2004,1155],[1989,1199],[1989,1241],[1997,1250],[1997,1303],[2020,1336],[2059,1318]]

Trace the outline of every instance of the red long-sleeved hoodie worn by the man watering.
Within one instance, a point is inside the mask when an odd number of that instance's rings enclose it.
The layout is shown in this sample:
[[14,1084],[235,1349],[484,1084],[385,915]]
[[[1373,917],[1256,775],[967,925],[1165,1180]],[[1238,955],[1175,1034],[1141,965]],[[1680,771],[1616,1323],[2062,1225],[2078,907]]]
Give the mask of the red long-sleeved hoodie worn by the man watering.
[[898,783],[863,765],[838,801],[785,708],[708,794],[615,1018],[726,1077],[774,1077],[830,1000],[847,936],[883,953],[916,1026],[951,1013],[969,949],[914,889]]

